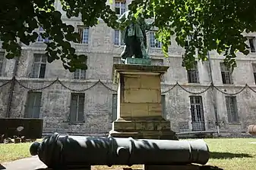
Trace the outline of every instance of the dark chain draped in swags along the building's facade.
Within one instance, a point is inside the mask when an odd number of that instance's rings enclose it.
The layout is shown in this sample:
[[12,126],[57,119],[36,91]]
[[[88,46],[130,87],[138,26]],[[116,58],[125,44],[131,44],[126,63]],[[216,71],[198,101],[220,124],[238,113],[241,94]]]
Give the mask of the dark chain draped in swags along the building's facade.
[[[8,80],[8,82],[5,82],[3,83],[2,85],[0,85],[0,88],[4,87],[5,85],[8,85],[8,83],[10,83],[13,79],[10,79]],[[55,79],[55,81],[51,82],[49,85],[46,85],[45,87],[43,88],[29,88],[25,85],[23,85],[20,81],[18,81],[17,79],[14,78],[14,81],[17,82],[18,85],[21,85],[21,87],[23,88],[26,88],[27,90],[29,91],[40,91],[40,90],[43,90],[43,89],[46,89],[46,88],[49,88],[50,86],[54,85],[56,82],[58,82],[60,85],[62,85],[62,87],[70,90],[70,91],[75,91],[75,92],[81,92],[81,91],[88,91],[90,90],[91,88],[93,88],[94,86],[98,85],[98,84],[101,84],[103,85],[105,88],[107,88],[109,91],[112,91],[112,92],[117,92],[116,90],[112,89],[112,88],[109,88],[109,86],[107,86],[106,84],[104,84],[100,79],[99,81],[95,82],[93,85],[91,85],[89,88],[84,88],[82,90],[76,90],[76,89],[72,89],[72,88],[69,88],[67,85],[65,85],[63,82],[61,82],[58,78]],[[220,91],[221,93],[223,94],[226,94],[226,95],[237,95],[237,94],[240,94],[242,93],[242,91],[245,90],[245,88],[249,88],[251,91],[253,91],[254,93],[256,93],[256,91],[251,88],[248,84],[245,84],[245,87],[243,87],[241,90],[235,92],[235,93],[227,93],[226,91],[222,91],[220,90],[220,88],[217,88],[215,85],[213,85],[213,83],[211,83],[207,88],[205,88],[203,91],[199,91],[199,92],[194,92],[194,91],[188,91],[188,89],[182,87],[182,85],[179,85],[178,82],[176,82],[175,85],[172,86],[172,88],[169,88],[168,90],[166,91],[163,91],[161,94],[166,94],[168,93],[169,91],[172,91],[173,88],[175,87],[179,87],[179,88],[182,88],[182,90],[188,92],[189,94],[203,94],[205,93],[206,91],[208,91],[210,88],[215,88],[217,91]]]

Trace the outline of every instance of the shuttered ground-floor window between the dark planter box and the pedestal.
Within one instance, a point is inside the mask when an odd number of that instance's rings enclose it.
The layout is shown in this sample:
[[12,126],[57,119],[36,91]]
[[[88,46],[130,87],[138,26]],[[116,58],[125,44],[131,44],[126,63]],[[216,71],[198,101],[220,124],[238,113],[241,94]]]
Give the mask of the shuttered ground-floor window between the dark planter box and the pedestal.
[[70,122],[84,122],[84,93],[71,93]]

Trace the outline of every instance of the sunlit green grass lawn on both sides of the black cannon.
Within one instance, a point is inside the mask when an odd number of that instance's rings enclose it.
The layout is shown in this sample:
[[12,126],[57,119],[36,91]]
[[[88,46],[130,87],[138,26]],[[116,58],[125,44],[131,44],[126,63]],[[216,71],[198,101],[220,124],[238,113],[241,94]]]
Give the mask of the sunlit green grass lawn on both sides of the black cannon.
[[[254,170],[256,165],[256,138],[219,138],[204,140],[210,149],[207,165],[218,166],[225,170]],[[0,144],[0,162],[9,162],[30,156],[31,143]],[[119,168],[120,166],[115,166]],[[123,167],[123,166],[122,166]],[[141,168],[135,165],[133,168]],[[114,168],[114,169],[115,169]],[[93,169],[113,169],[107,166],[94,166]]]

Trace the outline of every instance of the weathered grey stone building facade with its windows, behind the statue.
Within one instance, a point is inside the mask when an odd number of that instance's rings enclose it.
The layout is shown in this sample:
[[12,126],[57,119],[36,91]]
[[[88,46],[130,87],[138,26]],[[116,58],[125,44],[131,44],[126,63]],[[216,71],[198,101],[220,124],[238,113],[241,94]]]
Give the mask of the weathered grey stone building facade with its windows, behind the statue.
[[[112,8],[122,14],[128,3],[113,1]],[[58,2],[55,8],[62,11]],[[79,19],[68,20],[65,16],[62,19],[81,32],[81,43],[73,45],[77,53],[87,55],[88,70],[69,73],[60,60],[47,63],[43,55],[46,47],[43,42],[47,39],[22,45],[17,62],[6,60],[5,51],[0,49],[0,83],[13,76],[16,79],[0,88],[0,117],[43,119],[44,133],[105,134],[111,129],[116,113],[117,87],[112,83],[112,64],[120,62],[123,50],[120,32],[102,20],[99,25],[87,28]],[[169,119],[172,130],[219,129],[221,134],[241,134],[256,122],[256,33],[245,36],[251,53],[238,54],[238,66],[230,73],[222,64],[223,56],[215,51],[210,51],[209,61],[199,61],[193,70],[187,71],[182,67],[184,49],[175,43],[175,37],[166,58],[154,39],[154,31],[147,32],[148,53],[153,63],[169,66],[162,80],[162,103],[163,116]],[[235,94],[245,84],[248,86]]]

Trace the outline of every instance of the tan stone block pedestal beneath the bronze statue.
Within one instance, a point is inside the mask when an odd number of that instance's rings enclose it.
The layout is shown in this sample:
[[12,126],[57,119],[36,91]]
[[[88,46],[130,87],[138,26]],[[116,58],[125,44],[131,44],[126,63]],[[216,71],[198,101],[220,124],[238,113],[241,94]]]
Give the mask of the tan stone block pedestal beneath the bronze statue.
[[109,135],[177,140],[162,112],[160,76],[168,69],[169,66],[113,65],[112,78],[118,84],[118,107],[117,119]]

